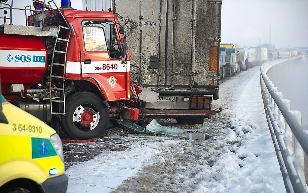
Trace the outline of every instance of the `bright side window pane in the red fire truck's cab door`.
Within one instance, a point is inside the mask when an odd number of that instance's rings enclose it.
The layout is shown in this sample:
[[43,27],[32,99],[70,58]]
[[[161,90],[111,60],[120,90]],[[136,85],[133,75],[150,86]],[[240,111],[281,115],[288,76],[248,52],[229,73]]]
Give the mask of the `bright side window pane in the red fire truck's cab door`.
[[102,27],[85,25],[82,28],[87,51],[107,51],[105,32]]

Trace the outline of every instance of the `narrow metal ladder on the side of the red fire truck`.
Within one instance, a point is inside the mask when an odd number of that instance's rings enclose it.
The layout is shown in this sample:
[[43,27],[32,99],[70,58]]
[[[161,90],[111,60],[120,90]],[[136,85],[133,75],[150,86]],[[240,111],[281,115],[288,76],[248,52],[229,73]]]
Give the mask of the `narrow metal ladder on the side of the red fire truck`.
[[[71,30],[68,27],[64,27],[59,25],[58,27],[58,33],[56,36],[55,40],[55,45],[53,48],[52,52],[52,60],[51,60],[51,69],[50,69],[50,93],[52,90],[58,90],[60,92],[60,97],[57,99],[57,97],[52,97],[52,94],[50,94],[50,111],[51,115],[65,115],[65,92],[64,92],[64,81],[65,81],[65,69],[66,69],[66,56],[67,56],[67,47],[68,47],[68,41],[70,40],[71,37],[71,32],[69,32],[68,39],[60,38],[60,36],[63,34],[63,31],[65,32],[66,30]],[[61,50],[62,49],[62,50]],[[63,57],[64,55],[64,57]],[[64,58],[61,61],[61,58]],[[58,76],[55,72],[55,68],[63,66],[63,76]],[[63,88],[57,88],[53,87],[52,84],[52,79],[54,78],[59,78],[60,80],[62,79],[62,87]],[[63,111],[61,111],[61,108],[59,109],[59,112],[53,111],[52,110],[52,103],[58,103],[58,107],[63,107]],[[61,104],[63,106],[61,106]]]

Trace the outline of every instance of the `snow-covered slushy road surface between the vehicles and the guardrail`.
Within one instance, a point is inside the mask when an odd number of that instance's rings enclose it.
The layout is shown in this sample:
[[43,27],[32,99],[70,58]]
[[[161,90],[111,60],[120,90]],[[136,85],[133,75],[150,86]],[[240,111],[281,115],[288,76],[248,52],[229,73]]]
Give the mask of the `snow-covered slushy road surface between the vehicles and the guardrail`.
[[203,125],[179,126],[208,133],[207,141],[129,134],[65,144],[67,192],[285,192],[259,67],[221,84],[219,107]]

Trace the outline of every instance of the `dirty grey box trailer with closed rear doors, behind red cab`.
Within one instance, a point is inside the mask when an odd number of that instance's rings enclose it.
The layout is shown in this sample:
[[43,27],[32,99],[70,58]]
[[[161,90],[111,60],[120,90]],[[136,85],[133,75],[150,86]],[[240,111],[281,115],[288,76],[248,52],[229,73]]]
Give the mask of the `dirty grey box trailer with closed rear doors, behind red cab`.
[[[88,10],[108,10],[104,3],[83,0],[83,8],[87,4]],[[113,12],[123,17],[119,21],[131,56],[131,82],[159,93],[156,104],[142,104],[144,116],[203,120],[220,112],[211,109],[211,101],[219,98],[221,4],[222,0],[110,1]]]

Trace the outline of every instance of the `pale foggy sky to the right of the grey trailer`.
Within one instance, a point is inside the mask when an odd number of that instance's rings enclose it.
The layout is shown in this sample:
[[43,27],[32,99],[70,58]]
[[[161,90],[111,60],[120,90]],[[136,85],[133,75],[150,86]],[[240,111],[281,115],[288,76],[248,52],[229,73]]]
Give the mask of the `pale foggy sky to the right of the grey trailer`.
[[221,42],[308,46],[308,0],[223,0]]

